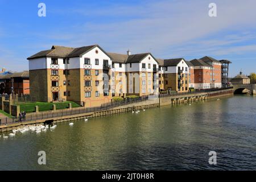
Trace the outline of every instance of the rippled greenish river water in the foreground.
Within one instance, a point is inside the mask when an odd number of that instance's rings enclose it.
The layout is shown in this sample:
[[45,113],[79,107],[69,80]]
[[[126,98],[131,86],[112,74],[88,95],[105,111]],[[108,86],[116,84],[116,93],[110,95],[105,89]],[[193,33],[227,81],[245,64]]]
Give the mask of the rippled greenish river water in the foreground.
[[[255,170],[256,97],[147,109],[0,138],[1,170]],[[3,135],[3,134],[1,134]],[[46,165],[38,152],[46,152]],[[210,165],[209,151],[217,152]]]

